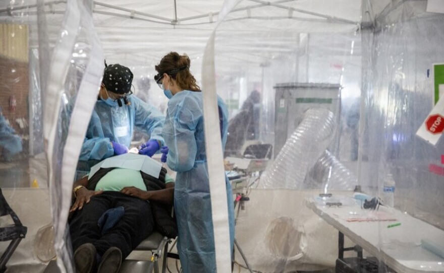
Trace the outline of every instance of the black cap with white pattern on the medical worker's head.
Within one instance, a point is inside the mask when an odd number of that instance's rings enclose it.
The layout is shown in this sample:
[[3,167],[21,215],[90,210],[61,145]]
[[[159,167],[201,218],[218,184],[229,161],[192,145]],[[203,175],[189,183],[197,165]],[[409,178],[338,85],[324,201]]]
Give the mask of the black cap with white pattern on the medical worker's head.
[[126,94],[131,91],[132,82],[133,73],[128,67],[119,63],[105,67],[102,83],[109,92]]

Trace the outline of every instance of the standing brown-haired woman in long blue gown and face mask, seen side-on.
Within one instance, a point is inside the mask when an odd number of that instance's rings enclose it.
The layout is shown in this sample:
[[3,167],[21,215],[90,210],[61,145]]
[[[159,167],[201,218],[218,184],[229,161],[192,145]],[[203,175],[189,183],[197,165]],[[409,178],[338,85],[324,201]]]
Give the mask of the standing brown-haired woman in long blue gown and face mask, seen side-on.
[[[178,252],[184,273],[216,272],[211,200],[206,162],[202,93],[190,73],[190,59],[170,52],[155,66],[154,77],[168,102],[162,136],[162,160],[177,171],[174,210],[178,224]],[[203,91],[205,92],[205,91]],[[228,111],[217,98],[223,148],[227,141]],[[231,249],[234,242],[234,204],[226,178]],[[231,253],[227,253],[230,254]]]

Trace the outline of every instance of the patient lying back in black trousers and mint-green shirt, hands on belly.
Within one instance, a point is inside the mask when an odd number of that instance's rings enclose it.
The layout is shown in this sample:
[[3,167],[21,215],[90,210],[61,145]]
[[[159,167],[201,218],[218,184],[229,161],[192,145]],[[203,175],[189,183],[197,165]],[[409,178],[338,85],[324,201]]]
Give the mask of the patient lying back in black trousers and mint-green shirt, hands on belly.
[[[128,156],[112,159],[125,163]],[[89,179],[85,176],[74,182],[69,229],[76,272],[117,272],[122,259],[154,230],[176,237],[177,226],[170,214],[174,180],[160,166],[157,172],[146,169],[100,168]]]

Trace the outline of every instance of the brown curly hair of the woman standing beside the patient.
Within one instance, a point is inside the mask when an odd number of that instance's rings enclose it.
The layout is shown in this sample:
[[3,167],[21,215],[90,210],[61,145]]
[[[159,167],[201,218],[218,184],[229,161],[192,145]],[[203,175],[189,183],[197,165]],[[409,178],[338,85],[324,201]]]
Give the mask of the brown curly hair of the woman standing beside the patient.
[[[196,84],[196,79],[190,72],[191,60],[187,54],[179,55],[177,52],[170,52],[163,56],[160,63],[155,66],[158,73],[167,73],[179,85],[180,88],[200,92],[200,87]],[[170,74],[169,71],[187,66],[188,68],[177,73]]]

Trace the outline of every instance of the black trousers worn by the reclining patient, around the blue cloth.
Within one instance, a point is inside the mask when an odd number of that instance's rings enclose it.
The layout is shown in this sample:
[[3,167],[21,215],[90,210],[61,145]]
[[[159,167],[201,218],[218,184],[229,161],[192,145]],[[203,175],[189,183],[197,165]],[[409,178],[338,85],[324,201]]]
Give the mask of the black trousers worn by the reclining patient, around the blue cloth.
[[[124,207],[124,216],[102,235],[97,221],[108,209],[119,206]],[[116,246],[125,258],[152,233],[154,222],[149,202],[118,191],[105,191],[76,211],[69,226],[74,251],[82,244],[91,243],[103,255],[109,247]]]

